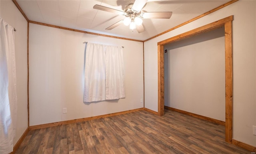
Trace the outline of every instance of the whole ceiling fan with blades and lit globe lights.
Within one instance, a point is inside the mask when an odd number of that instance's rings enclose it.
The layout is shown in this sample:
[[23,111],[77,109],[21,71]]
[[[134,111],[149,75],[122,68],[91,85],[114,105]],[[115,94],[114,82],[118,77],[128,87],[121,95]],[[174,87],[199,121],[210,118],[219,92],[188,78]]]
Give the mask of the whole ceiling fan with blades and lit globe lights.
[[147,1],[148,0],[135,0],[134,3],[125,7],[124,11],[108,8],[101,5],[94,5],[93,8],[126,16],[124,20],[116,22],[115,24],[106,28],[106,30],[112,30],[113,28],[124,23],[126,26],[130,25],[130,29],[132,31],[136,29],[138,33],[141,33],[145,31],[142,25],[142,19],[170,19],[172,16],[172,12],[143,12],[142,8]]

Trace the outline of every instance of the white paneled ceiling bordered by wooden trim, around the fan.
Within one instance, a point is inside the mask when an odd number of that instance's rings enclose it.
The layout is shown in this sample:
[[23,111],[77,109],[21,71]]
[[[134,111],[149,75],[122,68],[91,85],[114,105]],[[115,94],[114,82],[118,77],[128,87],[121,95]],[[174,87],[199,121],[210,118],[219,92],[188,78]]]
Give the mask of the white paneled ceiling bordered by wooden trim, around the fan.
[[105,30],[125,16],[93,9],[98,4],[123,11],[134,0],[16,0],[29,20],[66,28],[96,32],[123,38],[146,40],[229,0],[148,0],[146,12],[172,11],[170,19],[143,19],[145,31],[132,32],[129,26]]

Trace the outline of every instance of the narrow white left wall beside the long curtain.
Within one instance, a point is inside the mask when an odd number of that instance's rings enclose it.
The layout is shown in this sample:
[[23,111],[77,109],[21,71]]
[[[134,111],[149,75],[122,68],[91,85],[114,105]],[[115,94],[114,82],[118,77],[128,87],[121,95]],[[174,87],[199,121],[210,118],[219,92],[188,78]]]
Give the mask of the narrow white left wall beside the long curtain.
[[27,21],[11,0],[1,0],[0,5],[1,18],[17,30],[14,32],[18,99],[15,145],[28,128]]

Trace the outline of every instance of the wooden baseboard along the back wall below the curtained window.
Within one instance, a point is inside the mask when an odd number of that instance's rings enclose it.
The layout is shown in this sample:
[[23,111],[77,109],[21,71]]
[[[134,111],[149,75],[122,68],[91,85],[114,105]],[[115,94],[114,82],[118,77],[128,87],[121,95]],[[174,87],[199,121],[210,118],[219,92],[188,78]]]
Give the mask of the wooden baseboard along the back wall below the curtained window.
[[144,108],[122,111],[122,112],[118,112],[118,113],[110,113],[110,114],[100,115],[100,116],[92,116],[92,117],[88,117],[88,118],[80,118],[80,119],[74,119],[74,120],[52,122],[52,123],[48,123],[48,124],[39,124],[39,125],[29,126],[29,130],[60,126],[60,125],[64,125],[64,124],[72,124],[72,123],[76,123],[76,122],[95,120],[95,119],[106,118],[106,117],[110,117],[110,116],[124,115],[127,113],[133,113],[133,112],[137,112],[137,111],[141,111],[141,110],[144,110]]

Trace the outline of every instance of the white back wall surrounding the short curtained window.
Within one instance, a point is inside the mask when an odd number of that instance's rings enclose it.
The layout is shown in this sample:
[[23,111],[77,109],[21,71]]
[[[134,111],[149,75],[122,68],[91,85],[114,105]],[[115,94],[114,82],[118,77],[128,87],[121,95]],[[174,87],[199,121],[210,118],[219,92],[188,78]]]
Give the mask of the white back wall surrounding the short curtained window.
[[[30,24],[29,39],[31,126],[143,107],[142,42],[36,24]],[[84,41],[124,46],[125,99],[83,103]]]

